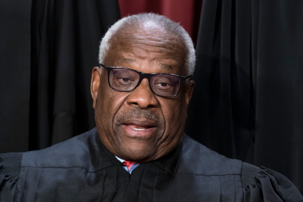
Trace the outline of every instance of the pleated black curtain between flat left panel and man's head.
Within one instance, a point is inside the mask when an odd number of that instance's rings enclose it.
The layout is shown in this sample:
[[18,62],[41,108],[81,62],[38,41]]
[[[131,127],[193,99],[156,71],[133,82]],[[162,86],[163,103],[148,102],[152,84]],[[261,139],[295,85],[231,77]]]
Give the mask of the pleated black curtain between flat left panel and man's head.
[[[42,149],[95,126],[90,78],[98,44],[119,18],[117,1],[33,2],[29,149]],[[39,15],[41,14],[42,15]],[[37,57],[36,57],[37,56]]]

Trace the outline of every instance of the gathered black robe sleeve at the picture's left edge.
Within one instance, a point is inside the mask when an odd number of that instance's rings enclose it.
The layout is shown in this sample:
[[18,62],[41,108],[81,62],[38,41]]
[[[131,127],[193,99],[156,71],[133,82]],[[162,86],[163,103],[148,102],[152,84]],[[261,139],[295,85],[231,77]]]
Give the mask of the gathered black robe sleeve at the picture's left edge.
[[23,153],[0,154],[0,201],[14,201]]

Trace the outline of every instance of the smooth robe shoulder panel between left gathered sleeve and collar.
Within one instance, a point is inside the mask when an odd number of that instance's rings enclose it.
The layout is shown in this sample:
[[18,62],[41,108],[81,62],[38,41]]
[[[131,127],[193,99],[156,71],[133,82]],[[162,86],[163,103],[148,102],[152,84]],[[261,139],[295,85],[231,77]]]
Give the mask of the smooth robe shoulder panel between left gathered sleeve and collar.
[[36,151],[25,152],[22,157],[21,167],[35,168],[69,168],[89,167],[91,154],[96,153],[98,144],[98,132],[94,128],[86,133],[75,136],[62,143]]

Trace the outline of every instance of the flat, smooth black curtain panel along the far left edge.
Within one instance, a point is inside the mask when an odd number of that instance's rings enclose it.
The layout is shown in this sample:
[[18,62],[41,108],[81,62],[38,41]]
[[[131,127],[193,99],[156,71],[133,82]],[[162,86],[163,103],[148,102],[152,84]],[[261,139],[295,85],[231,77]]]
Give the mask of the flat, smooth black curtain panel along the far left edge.
[[0,1],[0,153],[28,149],[31,11],[29,0]]

